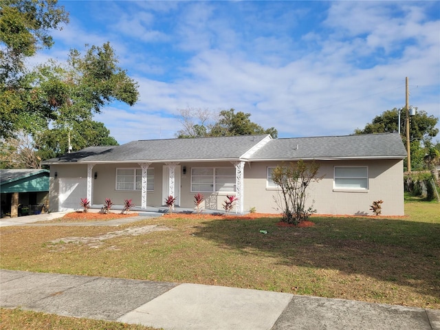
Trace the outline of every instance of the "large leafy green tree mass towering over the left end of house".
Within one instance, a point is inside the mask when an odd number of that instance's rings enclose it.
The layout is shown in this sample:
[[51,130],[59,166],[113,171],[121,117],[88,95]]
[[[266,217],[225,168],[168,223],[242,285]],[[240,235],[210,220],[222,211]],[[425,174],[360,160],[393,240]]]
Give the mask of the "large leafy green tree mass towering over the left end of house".
[[139,97],[137,83],[118,67],[109,43],[86,45],[85,54],[71,50],[67,63],[25,67],[25,58],[52,46],[50,31],[68,21],[56,0],[1,3],[0,143],[3,151],[17,151],[16,160],[24,150],[19,142],[40,160],[66,153],[68,135],[78,149],[118,144],[92,116],[113,100],[133,105]]

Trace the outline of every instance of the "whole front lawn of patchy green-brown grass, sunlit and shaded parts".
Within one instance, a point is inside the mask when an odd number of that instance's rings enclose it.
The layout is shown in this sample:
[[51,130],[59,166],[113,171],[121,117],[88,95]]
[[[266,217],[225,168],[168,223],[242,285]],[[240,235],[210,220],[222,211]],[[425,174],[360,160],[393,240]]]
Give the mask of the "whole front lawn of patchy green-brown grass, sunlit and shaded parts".
[[[119,236],[98,248],[59,240],[97,237],[115,228],[1,228],[1,267],[440,309],[440,204],[411,201],[405,207],[407,215],[395,219],[313,217],[311,228],[280,228],[276,218],[173,214],[121,227],[155,224],[171,230]],[[54,239],[58,243],[51,243]]]

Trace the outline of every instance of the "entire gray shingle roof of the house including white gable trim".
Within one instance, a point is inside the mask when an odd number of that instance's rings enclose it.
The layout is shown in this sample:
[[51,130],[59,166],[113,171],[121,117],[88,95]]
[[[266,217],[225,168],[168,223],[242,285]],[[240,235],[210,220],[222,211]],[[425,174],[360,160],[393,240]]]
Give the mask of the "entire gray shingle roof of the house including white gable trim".
[[[266,143],[267,142],[267,143]],[[257,150],[250,152],[253,148]],[[93,146],[48,159],[43,164],[72,162],[182,162],[214,160],[294,160],[404,158],[397,133],[294,137],[272,140],[270,135],[140,140],[121,146]]]

